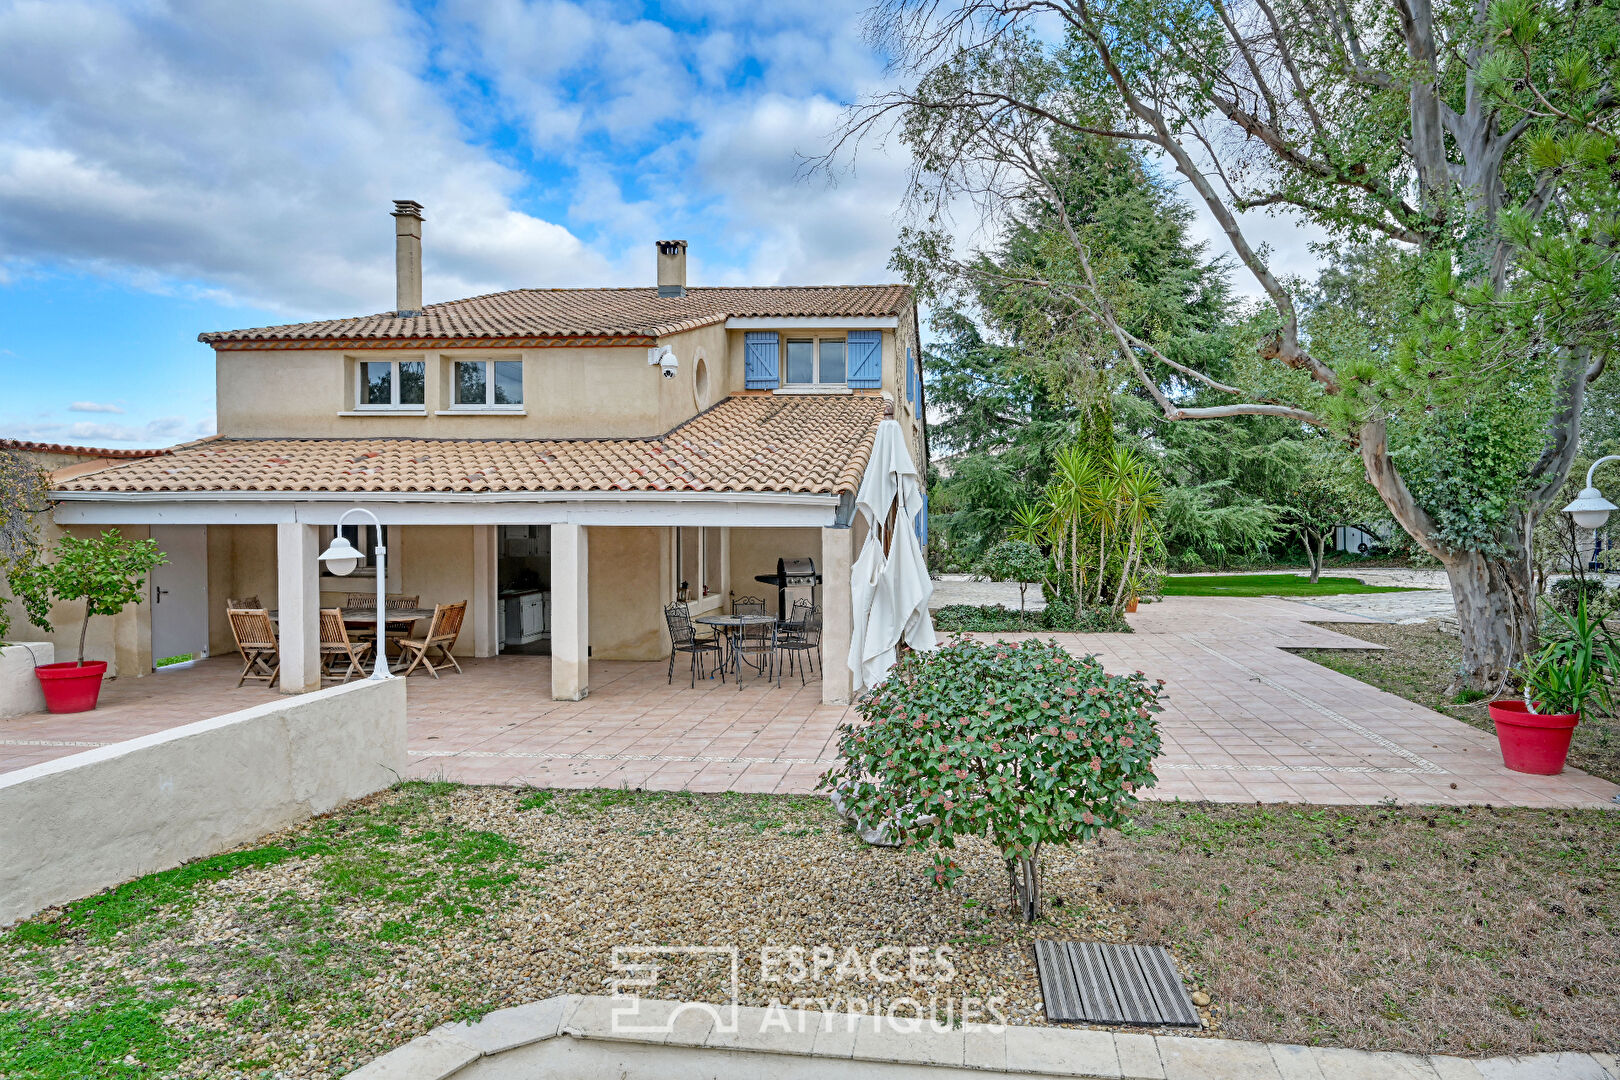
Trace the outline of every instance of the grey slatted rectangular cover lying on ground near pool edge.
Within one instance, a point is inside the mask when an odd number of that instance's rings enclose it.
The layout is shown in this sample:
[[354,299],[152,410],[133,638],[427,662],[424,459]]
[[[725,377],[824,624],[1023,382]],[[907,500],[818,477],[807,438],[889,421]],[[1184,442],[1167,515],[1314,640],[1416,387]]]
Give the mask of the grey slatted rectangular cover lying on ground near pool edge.
[[1199,1027],[1176,962],[1162,946],[1037,941],[1047,1020]]

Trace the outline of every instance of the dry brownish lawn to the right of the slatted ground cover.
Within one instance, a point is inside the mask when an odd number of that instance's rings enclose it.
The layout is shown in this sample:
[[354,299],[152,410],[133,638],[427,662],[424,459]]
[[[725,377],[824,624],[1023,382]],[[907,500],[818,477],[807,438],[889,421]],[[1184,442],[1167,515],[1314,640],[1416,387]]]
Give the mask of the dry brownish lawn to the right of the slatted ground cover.
[[1153,806],[1098,863],[1231,1036],[1620,1048],[1620,813]]

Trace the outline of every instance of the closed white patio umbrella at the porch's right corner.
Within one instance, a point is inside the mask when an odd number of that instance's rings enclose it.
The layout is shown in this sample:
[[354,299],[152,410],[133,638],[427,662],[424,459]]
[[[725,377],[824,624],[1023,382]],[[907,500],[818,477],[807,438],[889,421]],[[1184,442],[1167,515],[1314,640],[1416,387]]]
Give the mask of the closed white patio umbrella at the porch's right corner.
[[901,641],[914,649],[938,644],[928,615],[933,581],[915,526],[923,512],[922,474],[906,447],[906,432],[893,419],[878,424],[855,510],[867,520],[867,541],[850,573],[849,670],[859,690],[883,682]]

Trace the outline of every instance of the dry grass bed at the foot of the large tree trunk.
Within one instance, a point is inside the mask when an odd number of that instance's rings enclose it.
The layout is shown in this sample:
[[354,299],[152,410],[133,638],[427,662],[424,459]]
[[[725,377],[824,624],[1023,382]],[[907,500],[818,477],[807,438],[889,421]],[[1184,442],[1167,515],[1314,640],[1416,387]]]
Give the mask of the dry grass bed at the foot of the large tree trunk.
[[[1299,656],[1388,690],[1435,712],[1456,717],[1484,730],[1495,730],[1484,701],[1458,703],[1447,687],[1456,677],[1463,648],[1455,633],[1434,623],[1398,627],[1390,623],[1324,623],[1349,638],[1361,638],[1385,649],[1294,649]],[[1570,743],[1570,764],[1592,776],[1620,784],[1620,721],[1612,716],[1584,716]]]

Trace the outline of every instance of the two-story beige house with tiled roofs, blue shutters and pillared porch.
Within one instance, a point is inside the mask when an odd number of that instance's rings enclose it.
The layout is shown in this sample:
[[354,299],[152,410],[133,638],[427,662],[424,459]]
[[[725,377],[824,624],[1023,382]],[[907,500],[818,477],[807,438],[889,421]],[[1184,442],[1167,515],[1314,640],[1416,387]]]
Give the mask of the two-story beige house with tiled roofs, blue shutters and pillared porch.
[[910,290],[688,287],[687,244],[659,241],[653,287],[423,304],[421,207],[394,219],[394,311],[202,334],[215,437],[53,479],[58,525],[151,529],[170,555],[118,667],[230,651],[225,597],[258,596],[279,609],[284,688],[316,687],[318,609],[374,588],[316,554],[366,507],[389,593],[468,601],[458,653],[549,644],[562,699],[591,659],[667,656],[671,599],[774,610],[757,575],[813,559],[823,696],[847,699],[852,497],[886,410],[927,465]]

